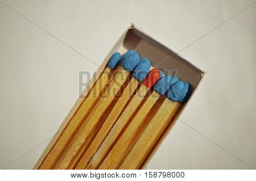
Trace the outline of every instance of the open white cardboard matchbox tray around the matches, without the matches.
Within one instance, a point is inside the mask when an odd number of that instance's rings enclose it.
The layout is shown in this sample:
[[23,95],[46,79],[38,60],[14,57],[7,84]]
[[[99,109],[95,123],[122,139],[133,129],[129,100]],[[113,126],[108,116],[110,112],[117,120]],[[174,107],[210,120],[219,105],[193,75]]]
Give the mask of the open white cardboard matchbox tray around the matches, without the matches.
[[[44,158],[46,158],[49,151],[51,151],[53,145],[55,145],[55,142],[61,136],[61,133],[64,131],[65,127],[67,127],[69,121],[76,114],[76,111],[81,106],[82,102],[86,98],[86,95],[88,94],[90,89],[92,89],[97,79],[100,77],[112,54],[115,52],[124,54],[129,49],[134,49],[141,55],[141,57],[147,57],[148,60],[151,61],[152,68],[154,68],[154,66],[157,66],[157,68],[162,70],[164,73],[175,73],[175,76],[177,76],[181,81],[189,82],[192,87],[192,93],[189,96],[188,100],[184,104],[182,104],[182,106],[176,112],[175,117],[164,129],[162,135],[158,139],[158,142],[156,142],[156,144],[153,146],[150,153],[147,155],[146,160],[143,162],[142,166],[139,169],[146,168],[148,162],[150,162],[151,158],[154,156],[159,146],[162,144],[164,138],[167,137],[168,133],[170,133],[170,131],[174,127],[184,108],[189,103],[189,100],[191,100],[193,94],[195,94],[197,87],[199,86],[200,82],[204,77],[205,71],[197,68],[195,65],[191,64],[191,62],[185,60],[185,58],[179,56],[179,54],[176,54],[170,48],[167,48],[163,44],[159,43],[150,35],[147,35],[143,31],[139,30],[139,28],[134,26],[134,24],[131,24],[131,26],[127,28],[127,30],[121,35],[121,37],[119,37],[113,48],[106,56],[105,60],[102,62],[100,68],[98,68],[93,78],[85,87],[85,90],[82,92],[80,98],[77,100],[72,110],[68,113],[68,116],[63,121],[63,124],[61,124],[59,130],[52,138],[51,142],[49,142],[46,150],[39,158],[34,169],[39,169],[40,165],[44,161]],[[163,62],[163,60],[167,61]]]

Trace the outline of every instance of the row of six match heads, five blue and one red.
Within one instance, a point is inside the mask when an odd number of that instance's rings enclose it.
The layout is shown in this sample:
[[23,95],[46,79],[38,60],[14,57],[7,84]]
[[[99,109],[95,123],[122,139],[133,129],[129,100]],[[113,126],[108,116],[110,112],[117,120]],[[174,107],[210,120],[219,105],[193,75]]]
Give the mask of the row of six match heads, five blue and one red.
[[123,69],[133,72],[133,77],[138,81],[144,81],[143,84],[154,90],[160,95],[166,94],[168,99],[173,102],[184,103],[191,94],[191,86],[188,82],[180,81],[177,77],[163,75],[161,70],[152,69],[151,62],[147,58],[141,58],[135,50],[128,50],[123,57],[119,52],[115,52],[108,62],[110,69],[114,69],[117,64]]

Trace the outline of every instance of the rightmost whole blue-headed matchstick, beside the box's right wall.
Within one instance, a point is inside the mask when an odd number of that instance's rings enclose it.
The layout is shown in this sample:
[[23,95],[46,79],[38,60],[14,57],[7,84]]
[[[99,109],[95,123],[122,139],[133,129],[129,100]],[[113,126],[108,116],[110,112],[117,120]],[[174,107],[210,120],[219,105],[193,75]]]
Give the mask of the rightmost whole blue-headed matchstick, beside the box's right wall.
[[[188,83],[183,85],[183,82],[177,81],[170,87],[167,91],[167,98],[164,99],[159,110],[151,118],[150,123],[118,169],[139,169],[141,167],[148,153],[174,117],[181,105],[180,102],[184,102],[189,95]],[[183,94],[177,94],[177,92],[183,92]]]

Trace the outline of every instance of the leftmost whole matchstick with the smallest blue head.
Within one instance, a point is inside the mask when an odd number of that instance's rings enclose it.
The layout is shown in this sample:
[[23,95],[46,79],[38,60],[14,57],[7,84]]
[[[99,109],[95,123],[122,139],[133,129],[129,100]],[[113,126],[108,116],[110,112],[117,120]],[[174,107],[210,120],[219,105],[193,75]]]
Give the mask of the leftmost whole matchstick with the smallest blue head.
[[39,169],[53,168],[53,166],[57,162],[57,159],[60,158],[61,153],[63,153],[69,141],[76,133],[77,128],[79,128],[79,125],[85,120],[89,111],[97,103],[97,100],[99,99],[100,95],[103,94],[103,92],[106,90],[106,87],[108,87],[110,77],[112,75],[112,69],[115,68],[120,58],[120,53],[114,53],[113,56],[110,58],[108,66],[106,66],[100,78],[96,81],[92,90],[90,90],[89,94],[86,96],[84,102],[82,102],[75,116],[73,116],[71,121],[69,121],[67,127],[60,135],[59,140],[57,140],[51,151],[48,153]]

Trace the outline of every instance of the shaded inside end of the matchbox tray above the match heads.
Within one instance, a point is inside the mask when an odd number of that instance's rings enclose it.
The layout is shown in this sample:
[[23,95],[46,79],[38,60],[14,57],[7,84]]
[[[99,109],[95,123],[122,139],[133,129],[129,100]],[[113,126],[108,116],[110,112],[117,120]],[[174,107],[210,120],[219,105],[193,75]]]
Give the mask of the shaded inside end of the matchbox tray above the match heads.
[[[136,35],[135,33],[138,35]],[[117,47],[117,51],[125,53],[129,49],[136,50],[141,57],[146,57],[151,61],[152,68],[158,68],[165,75],[175,75],[181,81],[189,82],[192,89],[195,89],[202,78],[202,71],[195,68],[188,61],[177,56],[170,49],[159,44],[147,35],[139,31],[129,30],[122,43]]]

